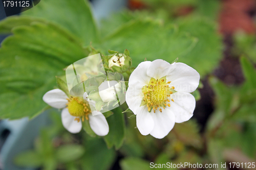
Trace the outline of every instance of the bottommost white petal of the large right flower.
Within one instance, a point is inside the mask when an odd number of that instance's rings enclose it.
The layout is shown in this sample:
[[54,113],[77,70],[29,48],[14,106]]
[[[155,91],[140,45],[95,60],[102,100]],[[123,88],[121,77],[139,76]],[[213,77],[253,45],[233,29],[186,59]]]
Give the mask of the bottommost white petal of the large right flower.
[[162,109],[162,112],[156,110],[156,113],[151,112],[154,119],[154,129],[150,133],[152,136],[158,139],[165,137],[175,125],[175,115],[172,111]]

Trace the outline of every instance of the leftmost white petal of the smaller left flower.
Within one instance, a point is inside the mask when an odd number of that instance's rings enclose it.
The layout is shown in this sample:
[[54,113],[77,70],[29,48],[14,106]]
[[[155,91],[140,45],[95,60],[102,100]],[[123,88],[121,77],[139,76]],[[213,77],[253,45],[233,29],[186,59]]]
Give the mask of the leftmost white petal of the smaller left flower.
[[42,100],[54,108],[62,109],[65,108],[68,103],[67,98],[68,96],[62,90],[53,89],[45,93]]

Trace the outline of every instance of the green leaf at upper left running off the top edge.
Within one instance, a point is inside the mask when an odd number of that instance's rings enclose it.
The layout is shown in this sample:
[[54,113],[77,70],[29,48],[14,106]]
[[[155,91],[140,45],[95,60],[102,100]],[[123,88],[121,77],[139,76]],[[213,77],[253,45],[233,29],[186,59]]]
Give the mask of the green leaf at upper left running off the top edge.
[[89,45],[91,41],[98,41],[98,31],[88,0],[45,0],[23,12],[22,15],[54,21],[80,37],[83,45]]

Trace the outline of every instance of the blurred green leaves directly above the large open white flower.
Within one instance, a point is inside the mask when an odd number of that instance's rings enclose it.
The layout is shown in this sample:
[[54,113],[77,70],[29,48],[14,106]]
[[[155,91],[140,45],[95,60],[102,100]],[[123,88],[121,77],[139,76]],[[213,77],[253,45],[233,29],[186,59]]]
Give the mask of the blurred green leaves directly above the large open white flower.
[[[179,62],[195,68],[201,77],[217,66],[223,46],[215,22],[198,15],[174,20],[154,18],[146,12],[124,11],[102,21],[107,36],[101,48],[129,49],[134,66],[144,58],[149,61],[161,58],[170,63],[179,58]],[[115,32],[107,34],[110,30]]]

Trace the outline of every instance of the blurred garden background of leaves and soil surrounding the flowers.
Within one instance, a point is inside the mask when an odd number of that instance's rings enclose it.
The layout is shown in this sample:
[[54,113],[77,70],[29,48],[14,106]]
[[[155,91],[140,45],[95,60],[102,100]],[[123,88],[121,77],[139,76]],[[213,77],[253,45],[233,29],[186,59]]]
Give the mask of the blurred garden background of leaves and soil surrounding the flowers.
[[[0,169],[255,169],[255,15],[254,0],[41,0],[7,18],[0,3]],[[123,113],[112,136],[68,133],[41,99],[90,43],[103,55],[127,48],[134,67],[178,58],[195,68],[194,116],[163,139],[142,136],[133,113]]]

